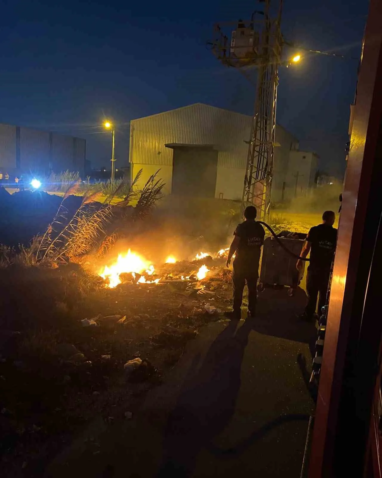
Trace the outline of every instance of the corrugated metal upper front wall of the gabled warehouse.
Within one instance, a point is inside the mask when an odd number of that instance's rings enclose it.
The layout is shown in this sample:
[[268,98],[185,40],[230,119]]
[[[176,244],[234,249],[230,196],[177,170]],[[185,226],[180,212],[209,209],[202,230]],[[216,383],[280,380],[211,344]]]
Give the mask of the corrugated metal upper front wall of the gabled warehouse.
[[172,165],[168,143],[214,144],[218,166],[245,168],[251,117],[197,103],[131,121],[130,163]]

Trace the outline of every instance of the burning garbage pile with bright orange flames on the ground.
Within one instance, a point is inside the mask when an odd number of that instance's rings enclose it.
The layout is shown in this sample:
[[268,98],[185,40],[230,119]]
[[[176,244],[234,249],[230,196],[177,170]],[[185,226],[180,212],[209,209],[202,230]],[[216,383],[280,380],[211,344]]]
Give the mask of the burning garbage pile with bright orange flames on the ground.
[[128,249],[127,253],[119,254],[115,262],[103,266],[98,275],[104,279],[106,287],[111,289],[125,282],[135,284],[197,282],[210,277],[212,269],[221,268],[227,254],[228,248],[221,249],[215,254],[201,251],[189,261],[178,261],[170,255],[157,268],[142,255]]

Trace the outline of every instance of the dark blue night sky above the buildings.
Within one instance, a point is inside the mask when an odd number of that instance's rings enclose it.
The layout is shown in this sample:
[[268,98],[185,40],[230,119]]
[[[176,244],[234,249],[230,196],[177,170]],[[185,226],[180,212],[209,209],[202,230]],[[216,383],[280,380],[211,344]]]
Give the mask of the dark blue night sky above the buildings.
[[[0,16],[0,122],[84,137],[87,159],[108,164],[111,138],[97,124],[119,124],[116,153],[127,164],[128,122],[202,102],[252,114],[254,88],[205,47],[215,22],[249,18],[249,0],[3,0]],[[307,48],[359,57],[366,0],[285,0],[283,33]],[[280,71],[277,122],[320,166],[344,168],[356,60],[311,54]]]

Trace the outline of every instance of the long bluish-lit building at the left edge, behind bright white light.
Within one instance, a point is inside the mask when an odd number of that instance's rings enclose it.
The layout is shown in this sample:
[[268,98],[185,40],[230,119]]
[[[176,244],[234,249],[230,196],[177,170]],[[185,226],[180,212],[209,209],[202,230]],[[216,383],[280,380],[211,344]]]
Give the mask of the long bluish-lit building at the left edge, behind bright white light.
[[0,170],[9,174],[78,171],[85,175],[85,140],[0,124]]

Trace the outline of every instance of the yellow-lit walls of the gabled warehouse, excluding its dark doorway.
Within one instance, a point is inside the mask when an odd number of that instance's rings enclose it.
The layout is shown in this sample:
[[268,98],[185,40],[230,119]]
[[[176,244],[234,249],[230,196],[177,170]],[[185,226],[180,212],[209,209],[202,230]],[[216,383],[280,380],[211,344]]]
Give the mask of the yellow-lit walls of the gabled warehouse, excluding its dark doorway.
[[[133,171],[143,168],[145,178],[162,168],[159,175],[166,177],[165,193],[170,194],[173,148],[211,146],[218,152],[215,197],[241,200],[251,125],[250,116],[201,103],[132,120],[129,162]],[[289,151],[296,142],[277,125],[272,196],[281,196]],[[139,187],[143,182],[142,177]]]

